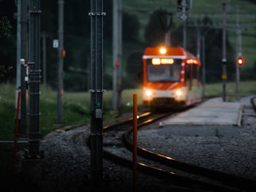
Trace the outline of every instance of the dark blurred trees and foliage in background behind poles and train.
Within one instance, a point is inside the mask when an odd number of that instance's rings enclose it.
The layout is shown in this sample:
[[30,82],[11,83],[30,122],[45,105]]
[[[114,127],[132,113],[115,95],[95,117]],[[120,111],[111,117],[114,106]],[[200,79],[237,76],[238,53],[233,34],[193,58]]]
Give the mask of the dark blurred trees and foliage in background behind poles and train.
[[[123,1],[123,65],[122,78],[123,89],[137,88],[141,83],[142,55],[148,46],[159,46],[164,44],[165,32],[160,23],[165,23],[166,18],[163,12],[170,11],[164,5],[164,1],[159,1],[159,6],[146,13],[147,20],[143,20],[137,9],[142,7],[129,7],[135,1]],[[146,4],[153,4],[153,0],[146,1]],[[166,4],[167,1],[165,1]],[[203,4],[202,1],[201,4]],[[212,2],[212,1],[211,1]],[[242,4],[243,1],[236,0]],[[247,4],[255,6],[255,1],[247,0]],[[65,91],[87,91],[89,90],[89,60],[90,60],[90,12],[89,0],[65,0],[64,1],[64,49],[67,54],[64,58],[64,90]],[[137,2],[138,3],[138,2]],[[193,1],[196,9],[197,3]],[[176,4],[176,1],[170,4]],[[212,2],[212,6],[220,4]],[[136,5],[136,4],[135,4]],[[153,4],[154,5],[154,4]],[[206,2],[206,5],[208,3]],[[47,37],[47,82],[55,89],[57,86],[57,50],[53,49],[53,39],[57,39],[58,31],[58,7],[57,1],[41,1],[41,31]],[[208,7],[211,9],[211,5]],[[131,11],[132,10],[132,11]],[[176,7],[173,7],[173,14]],[[15,83],[16,69],[16,20],[15,20],[15,1],[0,0],[0,58],[1,72],[0,82]],[[104,86],[105,89],[112,89],[112,1],[104,1]],[[221,4],[219,12],[221,12]],[[159,16],[161,15],[161,17]],[[144,14],[145,17],[145,14]],[[188,20],[188,23],[195,22]],[[207,16],[203,23],[212,24],[213,21]],[[182,46],[182,23],[177,18],[173,18],[171,28],[171,45]],[[206,29],[205,29],[206,30]],[[204,30],[204,31],[205,31]],[[143,33],[141,33],[143,31]],[[255,31],[254,31],[255,32]],[[227,31],[230,34],[230,31]],[[187,28],[187,50],[196,54],[196,28]],[[252,37],[255,39],[255,35]],[[233,37],[232,37],[233,38]],[[222,58],[222,30],[211,29],[206,36],[206,82],[221,81],[221,58]],[[233,38],[234,39],[234,38]],[[242,41],[248,41],[242,39]],[[243,42],[244,43],[244,42]],[[228,80],[235,80],[236,50],[233,40],[227,36],[227,75]],[[42,50],[41,50],[42,52]],[[245,52],[245,51],[244,51]],[[42,57],[41,57],[42,58]],[[241,69],[241,80],[255,80],[256,60],[246,61],[250,66],[243,66]],[[246,64],[247,64],[246,63]],[[245,65],[246,65],[245,64]],[[42,66],[42,61],[41,61]],[[42,68],[42,67],[41,67]]]

